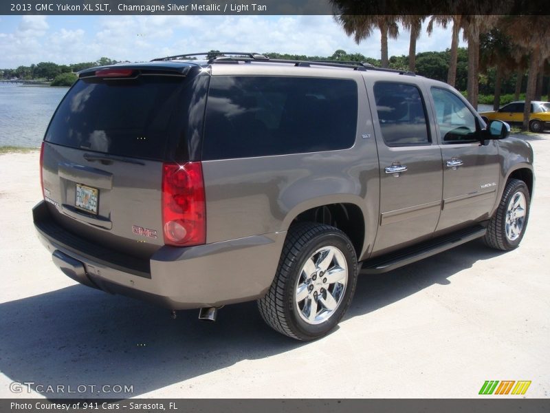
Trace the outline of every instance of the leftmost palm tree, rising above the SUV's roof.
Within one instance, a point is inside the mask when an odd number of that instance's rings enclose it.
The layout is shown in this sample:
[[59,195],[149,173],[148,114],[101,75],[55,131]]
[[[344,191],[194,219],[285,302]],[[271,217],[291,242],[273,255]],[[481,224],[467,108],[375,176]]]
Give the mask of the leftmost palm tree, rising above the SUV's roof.
[[380,30],[380,52],[382,67],[388,67],[388,37],[397,39],[399,28],[397,19],[393,15],[375,14],[371,16],[339,14],[335,16],[336,21],[342,25],[348,36],[353,34],[355,43],[372,36],[375,28]]

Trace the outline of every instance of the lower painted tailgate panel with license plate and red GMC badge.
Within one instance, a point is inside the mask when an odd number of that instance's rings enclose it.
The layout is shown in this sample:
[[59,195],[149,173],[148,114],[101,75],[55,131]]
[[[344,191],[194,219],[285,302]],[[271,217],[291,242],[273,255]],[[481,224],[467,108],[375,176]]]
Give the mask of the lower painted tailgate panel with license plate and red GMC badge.
[[45,142],[44,198],[52,217],[83,239],[151,256],[164,245],[162,162],[93,160],[90,154]]

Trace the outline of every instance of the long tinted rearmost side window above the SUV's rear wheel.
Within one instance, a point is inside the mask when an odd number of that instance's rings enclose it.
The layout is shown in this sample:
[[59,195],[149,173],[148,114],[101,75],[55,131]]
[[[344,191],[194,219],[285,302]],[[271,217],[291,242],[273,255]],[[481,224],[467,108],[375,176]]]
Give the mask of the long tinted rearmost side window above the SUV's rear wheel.
[[354,81],[213,76],[203,159],[330,151],[355,142]]

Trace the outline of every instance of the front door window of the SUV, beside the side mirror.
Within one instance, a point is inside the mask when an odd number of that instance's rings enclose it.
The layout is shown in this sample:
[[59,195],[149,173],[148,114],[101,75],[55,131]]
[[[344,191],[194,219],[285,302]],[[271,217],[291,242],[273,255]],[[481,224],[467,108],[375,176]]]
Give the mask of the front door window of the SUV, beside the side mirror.
[[457,143],[477,139],[476,118],[466,104],[454,93],[432,87],[435,113],[441,141]]

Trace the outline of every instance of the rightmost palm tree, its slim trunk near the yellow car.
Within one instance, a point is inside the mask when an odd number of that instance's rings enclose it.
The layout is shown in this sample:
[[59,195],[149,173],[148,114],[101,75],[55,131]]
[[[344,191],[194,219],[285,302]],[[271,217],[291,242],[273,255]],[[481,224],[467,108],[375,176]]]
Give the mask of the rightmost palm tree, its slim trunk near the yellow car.
[[525,91],[525,109],[523,112],[522,130],[529,128],[531,100],[536,92],[537,74],[541,59],[550,56],[550,16],[531,15],[505,17],[503,28],[509,33],[512,43],[525,48],[529,53],[529,72],[527,73],[527,90]]

